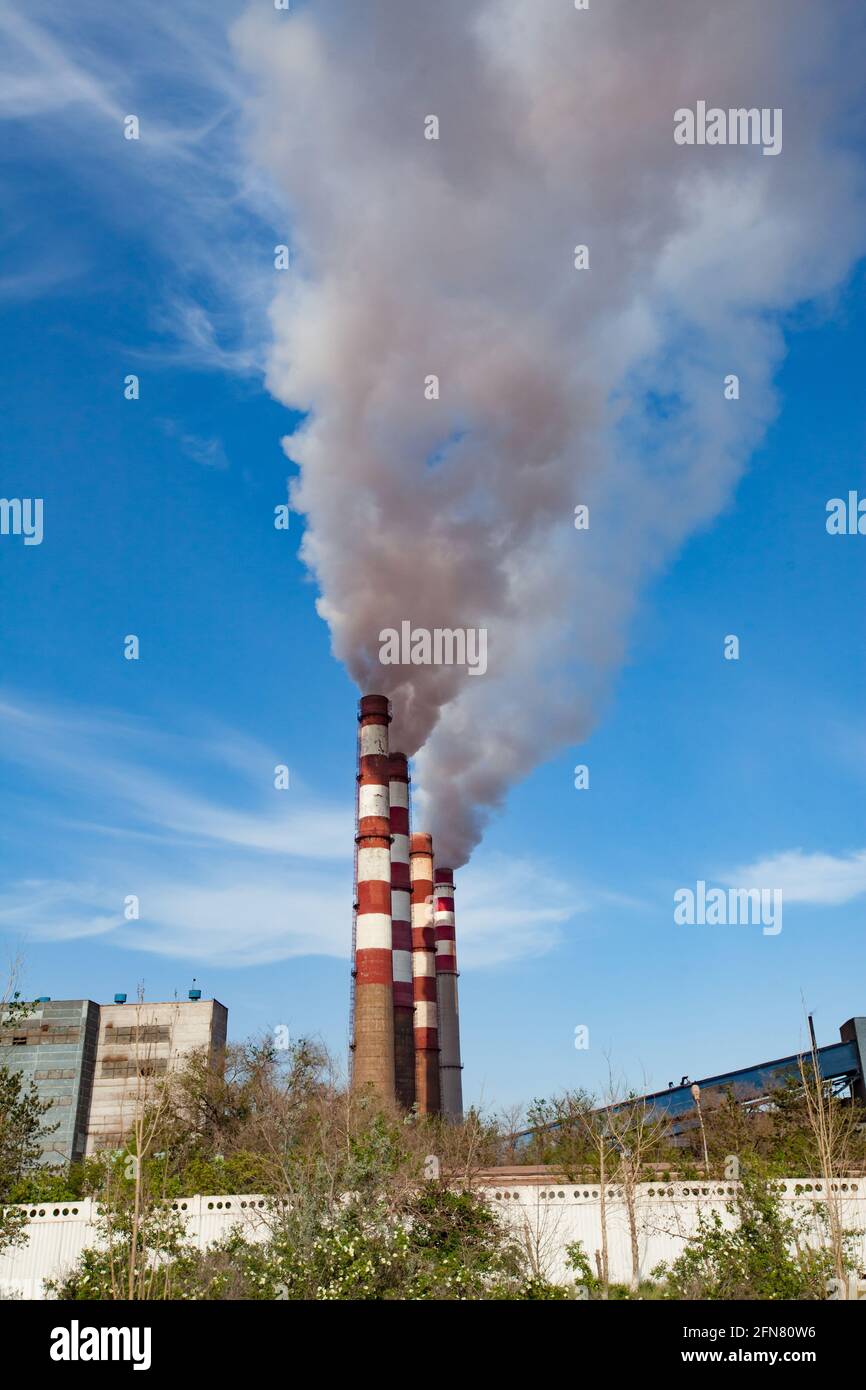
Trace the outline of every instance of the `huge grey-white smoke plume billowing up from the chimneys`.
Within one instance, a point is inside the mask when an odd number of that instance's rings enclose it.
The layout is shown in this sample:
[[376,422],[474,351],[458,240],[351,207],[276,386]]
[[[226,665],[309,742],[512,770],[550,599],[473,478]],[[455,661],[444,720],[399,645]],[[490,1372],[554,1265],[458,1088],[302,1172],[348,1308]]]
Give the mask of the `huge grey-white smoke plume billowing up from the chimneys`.
[[[587,733],[642,581],[773,417],[781,316],[862,250],[862,19],[813,0],[317,0],[256,6],[234,40],[292,228],[268,386],[309,411],[286,441],[304,559],[460,865],[509,785]],[[696,100],[781,107],[783,153],[677,146]],[[487,674],[382,666],[403,620],[487,628]]]

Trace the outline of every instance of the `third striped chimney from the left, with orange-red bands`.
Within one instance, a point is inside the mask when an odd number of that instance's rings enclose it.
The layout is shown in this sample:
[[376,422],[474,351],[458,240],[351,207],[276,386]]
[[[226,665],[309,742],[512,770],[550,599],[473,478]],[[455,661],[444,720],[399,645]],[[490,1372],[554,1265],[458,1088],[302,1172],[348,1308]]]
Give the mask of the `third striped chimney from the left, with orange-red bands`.
[[436,941],[432,915],[432,835],[413,835],[411,977],[414,988],[416,1101],[421,1115],[438,1115],[439,1031],[436,1023]]

